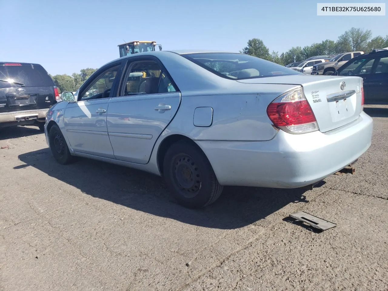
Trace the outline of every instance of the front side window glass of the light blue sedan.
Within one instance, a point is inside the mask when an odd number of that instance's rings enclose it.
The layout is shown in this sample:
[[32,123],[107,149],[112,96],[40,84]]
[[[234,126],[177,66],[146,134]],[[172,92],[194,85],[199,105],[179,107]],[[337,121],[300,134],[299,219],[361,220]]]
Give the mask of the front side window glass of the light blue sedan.
[[88,86],[87,90],[83,92],[81,100],[92,100],[109,97],[113,81],[116,78],[120,65],[107,69],[100,74],[92,84]]

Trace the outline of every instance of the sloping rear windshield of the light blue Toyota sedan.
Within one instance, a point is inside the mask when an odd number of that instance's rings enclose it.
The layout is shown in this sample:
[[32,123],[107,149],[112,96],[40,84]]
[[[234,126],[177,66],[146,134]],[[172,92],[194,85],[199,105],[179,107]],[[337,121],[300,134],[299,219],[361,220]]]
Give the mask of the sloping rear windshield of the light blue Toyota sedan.
[[234,80],[301,74],[274,62],[246,54],[211,52],[182,56],[212,73]]

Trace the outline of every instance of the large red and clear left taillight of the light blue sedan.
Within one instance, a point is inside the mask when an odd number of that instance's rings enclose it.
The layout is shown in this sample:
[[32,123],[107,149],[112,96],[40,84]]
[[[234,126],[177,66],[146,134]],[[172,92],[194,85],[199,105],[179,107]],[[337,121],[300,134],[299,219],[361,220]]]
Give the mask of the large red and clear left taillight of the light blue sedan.
[[272,101],[267,107],[267,115],[276,127],[288,133],[319,130],[315,115],[301,87]]

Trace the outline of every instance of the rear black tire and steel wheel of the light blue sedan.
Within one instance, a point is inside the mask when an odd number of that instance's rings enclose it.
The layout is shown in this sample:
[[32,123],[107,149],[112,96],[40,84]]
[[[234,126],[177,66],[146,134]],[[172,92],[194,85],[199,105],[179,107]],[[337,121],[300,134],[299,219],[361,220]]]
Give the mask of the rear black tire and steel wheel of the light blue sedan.
[[213,203],[223,189],[206,156],[189,141],[178,141],[167,150],[163,177],[172,196],[187,208]]

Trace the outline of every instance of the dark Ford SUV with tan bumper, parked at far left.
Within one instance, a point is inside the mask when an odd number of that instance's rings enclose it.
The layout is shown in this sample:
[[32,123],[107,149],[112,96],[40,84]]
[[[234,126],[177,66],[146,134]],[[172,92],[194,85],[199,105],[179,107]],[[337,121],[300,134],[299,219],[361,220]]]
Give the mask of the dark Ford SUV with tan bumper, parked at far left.
[[39,64],[0,62],[0,127],[36,125],[59,101],[58,89]]

